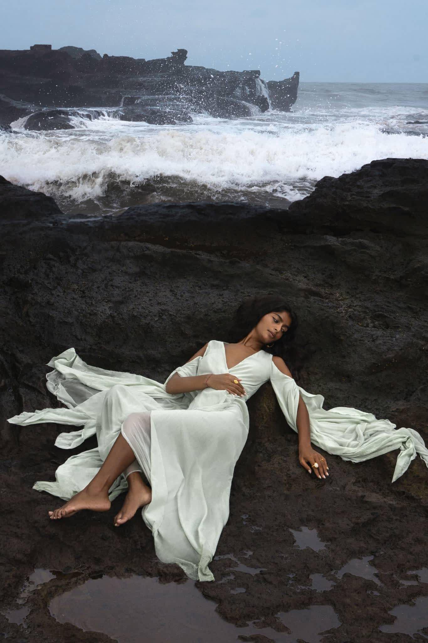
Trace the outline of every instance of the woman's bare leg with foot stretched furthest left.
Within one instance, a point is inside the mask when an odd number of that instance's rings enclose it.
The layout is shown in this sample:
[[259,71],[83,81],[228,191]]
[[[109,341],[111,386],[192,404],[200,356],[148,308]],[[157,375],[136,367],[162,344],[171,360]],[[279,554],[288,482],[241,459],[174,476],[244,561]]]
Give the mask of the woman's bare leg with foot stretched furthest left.
[[[135,453],[129,446],[128,442],[124,439],[123,435],[119,433],[116,442],[114,442],[110,452],[105,458],[103,466],[99,469],[98,473],[89,485],[77,493],[71,500],[65,503],[55,511],[49,511],[51,520],[58,518],[69,518],[81,509],[92,509],[92,511],[108,511],[110,509],[110,500],[108,500],[108,490],[116,480],[116,478],[123,473],[123,471],[132,464],[135,460]],[[133,473],[128,476],[128,479]]]

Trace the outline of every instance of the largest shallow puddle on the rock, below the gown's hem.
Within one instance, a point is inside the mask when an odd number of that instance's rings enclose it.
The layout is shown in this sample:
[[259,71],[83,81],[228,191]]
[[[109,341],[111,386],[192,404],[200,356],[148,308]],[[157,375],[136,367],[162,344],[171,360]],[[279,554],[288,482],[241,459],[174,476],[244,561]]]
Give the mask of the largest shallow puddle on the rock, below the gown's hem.
[[[237,588],[235,593],[242,591]],[[238,635],[262,634],[278,643],[296,643],[298,638],[318,643],[321,633],[340,625],[333,608],[314,605],[304,610],[276,615],[291,633],[272,628],[236,628],[223,620],[193,581],[158,583],[157,578],[132,576],[118,579],[104,576],[55,597],[51,615],[61,623],[70,622],[85,631],[98,631],[119,643],[234,643]]]

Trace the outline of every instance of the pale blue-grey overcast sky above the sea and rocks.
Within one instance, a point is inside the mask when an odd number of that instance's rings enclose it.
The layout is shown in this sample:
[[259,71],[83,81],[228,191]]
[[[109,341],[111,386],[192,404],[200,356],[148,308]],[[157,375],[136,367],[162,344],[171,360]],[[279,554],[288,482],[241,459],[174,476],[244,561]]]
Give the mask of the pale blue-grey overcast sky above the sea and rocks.
[[[15,0],[0,47],[75,45],[101,55],[261,69],[265,80],[428,82],[428,0]],[[425,44],[424,44],[425,43]]]

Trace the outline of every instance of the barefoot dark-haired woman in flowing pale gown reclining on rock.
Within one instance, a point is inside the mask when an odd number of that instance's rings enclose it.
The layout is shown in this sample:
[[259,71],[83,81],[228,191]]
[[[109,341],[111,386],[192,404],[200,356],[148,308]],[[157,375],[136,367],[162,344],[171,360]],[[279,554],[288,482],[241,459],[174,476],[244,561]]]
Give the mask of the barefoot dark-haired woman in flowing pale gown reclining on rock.
[[47,388],[67,408],[24,412],[12,424],[59,422],[82,426],[61,433],[56,446],[72,449],[96,433],[98,447],[73,455],[56,482],[34,489],[68,500],[52,520],[81,509],[107,511],[128,491],[116,526],[142,508],[158,558],[178,563],[194,580],[212,581],[209,563],[229,515],[235,464],[248,436],[246,401],[270,380],[286,421],[298,433],[299,462],[318,478],[329,475],[312,448],[361,462],[400,449],[392,482],[428,450],[419,433],[354,408],[323,409],[322,395],[296,385],[284,356],[296,314],[281,296],[253,297],[237,310],[241,340],[210,340],[161,384],[148,377],[87,365],[74,349],[49,361]]

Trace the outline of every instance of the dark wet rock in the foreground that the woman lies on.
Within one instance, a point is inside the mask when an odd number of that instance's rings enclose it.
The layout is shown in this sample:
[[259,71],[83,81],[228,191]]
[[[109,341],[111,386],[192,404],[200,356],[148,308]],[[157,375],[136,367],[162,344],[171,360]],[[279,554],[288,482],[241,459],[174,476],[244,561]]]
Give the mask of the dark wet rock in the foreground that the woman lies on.
[[[206,341],[228,341],[242,298],[282,291],[300,318],[287,362],[298,384],[321,393],[325,408],[372,412],[426,442],[427,179],[427,161],[383,159],[323,179],[288,211],[189,203],[92,220],[65,217],[47,197],[43,206],[43,197],[16,188],[46,210],[35,217],[29,205],[17,223],[9,206],[1,221],[0,623],[10,640],[37,633],[49,643],[131,641],[109,627],[111,606],[98,633],[63,612],[72,590],[82,613],[102,611],[96,585],[85,583],[135,574],[141,601],[143,581],[158,577],[168,588],[155,602],[164,619],[173,589],[177,605],[180,592],[210,599],[230,628],[228,638],[218,626],[222,641],[424,640],[428,629],[414,619],[415,631],[403,631],[395,611],[423,610],[428,595],[428,471],[420,458],[391,484],[398,451],[360,464],[321,451],[330,476],[318,480],[300,466],[297,436],[266,383],[248,403],[250,434],[210,565],[216,580],[195,585],[157,560],[141,515],[114,528],[120,496],[106,513],[49,521],[62,501],[33,483],[53,479],[96,439],[65,452],[53,446],[64,426],[6,419],[59,405],[46,391],[46,363],[62,350],[164,381]],[[14,189],[0,183],[0,207]],[[114,587],[117,597],[122,586]],[[171,631],[180,633],[177,619]],[[307,622],[312,629],[300,627]],[[207,623],[201,616],[194,624],[194,641],[205,640]]]

